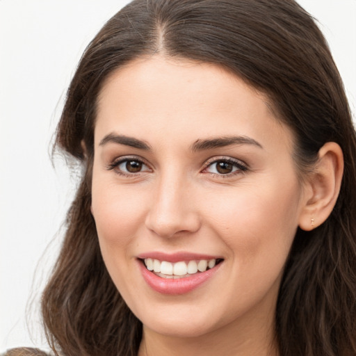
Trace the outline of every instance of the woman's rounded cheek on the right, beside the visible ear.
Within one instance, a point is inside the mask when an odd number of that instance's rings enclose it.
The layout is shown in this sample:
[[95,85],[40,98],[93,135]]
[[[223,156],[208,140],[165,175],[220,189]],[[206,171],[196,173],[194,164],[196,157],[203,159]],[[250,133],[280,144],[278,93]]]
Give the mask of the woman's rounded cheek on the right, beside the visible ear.
[[213,200],[207,222],[241,264],[286,258],[298,227],[299,188],[290,184],[243,186]]

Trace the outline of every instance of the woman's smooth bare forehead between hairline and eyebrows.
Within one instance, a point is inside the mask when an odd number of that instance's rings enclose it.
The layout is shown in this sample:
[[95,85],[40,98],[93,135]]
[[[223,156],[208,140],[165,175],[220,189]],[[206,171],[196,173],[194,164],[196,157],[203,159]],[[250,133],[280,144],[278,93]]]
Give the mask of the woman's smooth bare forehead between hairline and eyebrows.
[[[234,134],[291,143],[266,95],[222,67],[154,56],[108,77],[99,94],[95,140],[111,131],[161,141]],[[144,138],[144,137],[138,137]]]

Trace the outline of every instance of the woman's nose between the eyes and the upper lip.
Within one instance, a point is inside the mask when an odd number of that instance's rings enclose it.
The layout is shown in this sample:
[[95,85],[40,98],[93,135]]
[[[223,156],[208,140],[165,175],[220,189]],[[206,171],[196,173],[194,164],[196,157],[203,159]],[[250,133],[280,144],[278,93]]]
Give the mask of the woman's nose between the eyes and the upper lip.
[[152,205],[145,219],[147,229],[165,238],[197,232],[200,216],[192,188],[177,175],[161,177],[152,191]]

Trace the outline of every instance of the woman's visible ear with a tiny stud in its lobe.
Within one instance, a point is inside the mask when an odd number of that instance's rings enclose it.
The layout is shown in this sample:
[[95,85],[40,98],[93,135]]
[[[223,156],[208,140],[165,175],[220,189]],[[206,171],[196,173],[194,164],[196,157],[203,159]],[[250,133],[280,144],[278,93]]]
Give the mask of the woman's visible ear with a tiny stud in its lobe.
[[343,175],[343,153],[334,142],[325,143],[318,152],[318,161],[305,182],[305,202],[299,227],[310,231],[330,216],[339,196]]

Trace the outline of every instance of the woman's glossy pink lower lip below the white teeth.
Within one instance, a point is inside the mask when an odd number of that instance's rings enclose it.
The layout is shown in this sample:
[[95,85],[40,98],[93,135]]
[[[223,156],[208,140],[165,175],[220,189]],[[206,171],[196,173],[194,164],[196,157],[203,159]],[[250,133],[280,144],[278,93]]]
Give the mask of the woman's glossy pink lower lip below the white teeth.
[[169,295],[177,295],[184,294],[190,291],[193,291],[198,286],[207,282],[216,271],[220,268],[220,264],[216,265],[211,270],[207,270],[205,272],[196,273],[195,275],[190,275],[189,277],[183,278],[163,278],[155,275],[153,272],[147,270],[142,261],[138,261],[140,265],[140,270],[143,275],[143,278],[147,282],[147,284],[154,289],[154,291],[169,294]]

